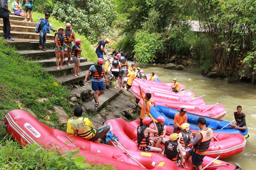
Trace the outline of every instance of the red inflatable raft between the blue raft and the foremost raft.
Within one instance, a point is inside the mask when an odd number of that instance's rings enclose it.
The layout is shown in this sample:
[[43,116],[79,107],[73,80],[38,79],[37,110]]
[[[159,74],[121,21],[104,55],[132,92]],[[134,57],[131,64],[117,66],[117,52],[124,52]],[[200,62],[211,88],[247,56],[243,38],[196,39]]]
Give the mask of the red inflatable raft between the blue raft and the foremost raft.
[[[111,125],[113,129],[110,131],[119,138],[119,142],[127,149],[139,150],[137,146],[137,127],[140,124],[140,120],[135,120],[130,123],[123,119],[111,119],[106,121],[106,124]],[[173,127],[166,126],[166,134],[173,133]],[[153,126],[152,126],[153,128]],[[191,129],[191,132],[197,132],[197,130]],[[179,132],[178,132],[179,133]],[[209,162],[209,157],[216,158],[220,155],[221,158],[227,158],[239,154],[243,151],[246,145],[246,139],[243,135],[237,133],[216,133],[213,135],[217,138],[213,138],[210,147],[207,150],[207,157],[204,158],[203,166],[207,165]],[[165,136],[169,139],[169,135]],[[111,144],[111,143],[110,143]],[[155,144],[155,143],[154,143]],[[164,144],[161,144],[164,146]],[[204,164],[206,163],[206,164]],[[208,169],[208,168],[207,168]]]

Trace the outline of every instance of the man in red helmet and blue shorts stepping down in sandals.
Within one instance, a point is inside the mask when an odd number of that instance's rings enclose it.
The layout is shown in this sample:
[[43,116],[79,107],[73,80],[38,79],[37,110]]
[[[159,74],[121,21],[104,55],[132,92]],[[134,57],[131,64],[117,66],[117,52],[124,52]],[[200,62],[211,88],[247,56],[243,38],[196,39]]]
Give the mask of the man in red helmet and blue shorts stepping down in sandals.
[[[87,78],[89,74],[91,73],[92,76],[92,90],[94,91],[94,101],[95,101],[95,107],[99,106],[99,96],[102,95],[105,92],[105,86],[103,83],[102,78],[105,78],[106,83],[107,77],[104,71],[104,66],[103,66],[104,60],[102,58],[98,58],[97,63],[93,64],[88,72],[85,75],[84,83],[86,83]],[[100,90],[100,92],[99,92]]]

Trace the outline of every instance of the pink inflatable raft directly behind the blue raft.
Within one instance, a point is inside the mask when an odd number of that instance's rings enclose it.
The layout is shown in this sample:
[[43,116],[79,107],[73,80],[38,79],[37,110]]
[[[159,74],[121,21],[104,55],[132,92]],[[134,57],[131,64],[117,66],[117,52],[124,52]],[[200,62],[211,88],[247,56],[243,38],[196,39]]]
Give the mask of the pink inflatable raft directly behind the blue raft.
[[[140,99],[138,106],[141,109],[143,100]],[[161,105],[164,107],[176,109],[180,111],[181,108],[186,108],[187,112],[206,116],[210,118],[220,119],[226,114],[226,110],[222,105],[195,105],[195,104],[188,104],[184,102],[170,102],[170,101],[151,101],[154,105]],[[177,111],[177,113],[178,113]],[[203,112],[204,111],[204,112]]]

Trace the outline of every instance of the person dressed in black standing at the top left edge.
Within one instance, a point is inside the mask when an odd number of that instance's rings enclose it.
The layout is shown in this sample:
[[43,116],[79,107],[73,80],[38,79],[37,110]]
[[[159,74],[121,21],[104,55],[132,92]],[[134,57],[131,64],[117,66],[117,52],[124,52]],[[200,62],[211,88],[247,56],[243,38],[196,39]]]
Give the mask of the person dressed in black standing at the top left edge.
[[7,0],[1,0],[0,1],[0,18],[3,18],[3,32],[4,32],[3,39],[14,41],[14,39],[11,38],[11,25],[9,20],[9,13],[11,13],[11,11],[8,8]]

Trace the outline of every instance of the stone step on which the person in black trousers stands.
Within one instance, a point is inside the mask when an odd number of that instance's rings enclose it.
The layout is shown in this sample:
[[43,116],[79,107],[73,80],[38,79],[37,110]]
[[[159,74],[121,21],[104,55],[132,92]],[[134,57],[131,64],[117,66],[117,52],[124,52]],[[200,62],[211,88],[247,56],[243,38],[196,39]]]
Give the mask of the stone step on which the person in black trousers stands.
[[[5,42],[8,42],[10,46],[15,47],[17,50],[38,50],[39,49],[39,40],[34,39],[15,39],[15,41],[8,41],[5,40]],[[54,40],[47,40],[45,43],[45,48],[52,48],[54,44]]]

